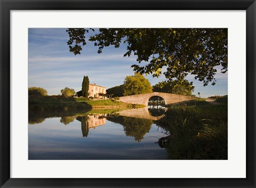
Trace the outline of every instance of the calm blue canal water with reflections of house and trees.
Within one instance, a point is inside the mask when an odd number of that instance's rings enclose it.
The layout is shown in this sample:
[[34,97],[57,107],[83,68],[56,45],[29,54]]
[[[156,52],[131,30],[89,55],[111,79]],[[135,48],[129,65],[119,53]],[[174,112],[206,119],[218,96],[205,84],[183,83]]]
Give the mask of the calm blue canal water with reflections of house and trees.
[[29,160],[167,159],[155,122],[162,106],[90,112],[30,112]]

